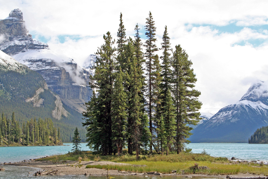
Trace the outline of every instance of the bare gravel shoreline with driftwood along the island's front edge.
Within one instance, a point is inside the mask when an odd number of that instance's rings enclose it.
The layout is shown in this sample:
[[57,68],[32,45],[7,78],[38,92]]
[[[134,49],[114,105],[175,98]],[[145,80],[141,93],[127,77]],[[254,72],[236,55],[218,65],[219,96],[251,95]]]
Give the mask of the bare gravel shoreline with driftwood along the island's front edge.
[[[3,166],[27,166],[32,168],[38,168],[40,171],[47,170],[57,170],[53,175],[91,175],[91,176],[106,176],[106,169],[96,169],[96,168],[85,168],[86,165],[131,165],[128,163],[116,163],[111,161],[63,161],[63,162],[52,162],[52,161],[21,161],[15,163],[4,163]],[[33,173],[34,174],[34,173]],[[216,177],[216,178],[226,178],[226,175],[207,175],[207,174],[162,174],[162,175],[148,175],[146,173],[136,173],[136,172],[124,172],[118,170],[109,170],[108,174],[111,176],[127,176],[127,175],[139,175],[139,176],[181,176],[181,177]],[[238,173],[234,175],[229,175],[230,177],[266,177],[265,175],[256,175],[250,173]]]

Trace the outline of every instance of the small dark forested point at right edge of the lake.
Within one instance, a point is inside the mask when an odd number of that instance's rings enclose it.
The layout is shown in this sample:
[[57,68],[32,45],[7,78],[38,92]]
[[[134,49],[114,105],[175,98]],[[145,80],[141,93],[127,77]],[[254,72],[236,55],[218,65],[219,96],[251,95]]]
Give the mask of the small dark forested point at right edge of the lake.
[[268,143],[268,126],[257,129],[254,134],[248,138],[248,143]]

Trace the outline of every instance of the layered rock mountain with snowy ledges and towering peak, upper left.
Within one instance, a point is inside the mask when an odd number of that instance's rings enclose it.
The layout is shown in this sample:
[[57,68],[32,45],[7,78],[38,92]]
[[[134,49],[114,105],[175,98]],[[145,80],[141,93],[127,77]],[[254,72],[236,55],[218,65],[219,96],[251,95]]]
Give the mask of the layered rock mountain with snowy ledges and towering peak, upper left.
[[0,20],[0,50],[40,73],[48,88],[60,96],[68,107],[82,112],[92,91],[86,85],[88,72],[77,66],[73,59],[58,55],[47,44],[32,39],[21,10],[14,9],[9,17]]

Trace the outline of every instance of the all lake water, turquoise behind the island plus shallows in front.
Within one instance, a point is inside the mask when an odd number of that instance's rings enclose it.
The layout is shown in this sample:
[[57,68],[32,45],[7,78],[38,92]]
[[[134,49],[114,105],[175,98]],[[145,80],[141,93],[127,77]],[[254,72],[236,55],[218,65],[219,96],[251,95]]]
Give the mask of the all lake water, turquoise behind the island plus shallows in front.
[[[82,150],[89,150],[86,143],[81,143]],[[201,153],[205,149],[207,153],[215,157],[236,157],[242,160],[268,161],[268,144],[247,144],[247,143],[190,143],[186,146],[191,148],[193,153]],[[72,143],[65,143],[65,146],[23,146],[23,147],[0,147],[0,163],[18,162],[46,155],[65,154],[71,151]],[[0,179],[26,179],[33,178],[33,173],[39,169],[29,167],[4,166],[5,171],[0,172]],[[28,174],[30,172],[30,174]],[[29,175],[29,177],[27,176]],[[42,179],[105,179],[105,176],[84,176],[84,175],[59,175],[40,176]],[[143,176],[116,176],[116,179],[141,179]],[[183,179],[178,176],[165,176],[166,179]],[[215,177],[205,177],[215,179]],[[160,179],[160,177],[148,177],[148,179]],[[204,177],[193,177],[193,179],[204,179]]]

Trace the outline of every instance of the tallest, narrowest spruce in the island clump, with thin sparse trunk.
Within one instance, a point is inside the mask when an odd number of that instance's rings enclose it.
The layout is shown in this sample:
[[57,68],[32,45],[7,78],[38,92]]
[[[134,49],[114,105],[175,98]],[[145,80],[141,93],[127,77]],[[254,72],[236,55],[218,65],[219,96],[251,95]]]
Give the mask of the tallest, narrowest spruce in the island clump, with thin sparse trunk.
[[[155,38],[155,21],[153,21],[152,13],[149,12],[149,17],[146,18],[146,25],[145,25],[145,36],[147,40],[145,41],[145,58],[146,58],[146,75],[148,78],[148,85],[147,85],[147,97],[149,99],[149,106],[148,106],[148,113],[149,113],[149,130],[151,135],[153,135],[153,126],[152,126],[152,72],[154,70],[153,67],[153,59],[155,57],[155,52],[158,50],[156,47],[156,38]],[[152,140],[149,145],[150,153],[152,153]]]

